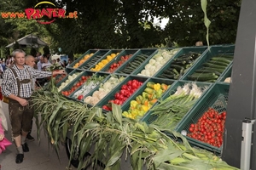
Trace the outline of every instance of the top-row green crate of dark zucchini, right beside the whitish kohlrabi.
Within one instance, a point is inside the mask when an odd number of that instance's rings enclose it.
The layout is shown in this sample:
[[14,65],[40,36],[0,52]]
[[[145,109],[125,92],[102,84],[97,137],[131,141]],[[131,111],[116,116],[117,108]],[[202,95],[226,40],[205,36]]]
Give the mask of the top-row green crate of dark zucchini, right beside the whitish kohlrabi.
[[[175,56],[173,59],[177,59],[177,58],[179,58],[181,55],[183,55],[183,54],[189,54],[190,52],[199,53],[199,54],[201,54],[201,56],[203,56],[204,53],[207,52],[207,47],[189,47],[189,48],[182,48],[182,49],[178,52],[178,54],[176,54],[176,56]],[[198,57],[197,59],[195,59],[193,65],[195,65],[195,63],[197,62],[197,60],[199,60],[199,59],[201,58],[201,56]],[[166,71],[166,69],[168,69],[168,68],[172,65],[173,59],[170,59],[170,60],[166,63],[166,65],[164,65],[164,66],[162,67],[162,69],[160,69],[160,71],[157,71],[157,72],[155,73],[154,77],[161,78],[161,77],[159,77],[159,76],[160,76],[164,71]],[[191,65],[191,66],[192,66],[192,65]],[[189,71],[189,69],[191,68],[191,66],[190,66],[188,69],[186,69],[186,72]],[[176,80],[180,79],[181,77],[182,77],[182,75],[181,75],[180,77],[177,77]],[[174,78],[171,78],[171,79],[174,79]]]

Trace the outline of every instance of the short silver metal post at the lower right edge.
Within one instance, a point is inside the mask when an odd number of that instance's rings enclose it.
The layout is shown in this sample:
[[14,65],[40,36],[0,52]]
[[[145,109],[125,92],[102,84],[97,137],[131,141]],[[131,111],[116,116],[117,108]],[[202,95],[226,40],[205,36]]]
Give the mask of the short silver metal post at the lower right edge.
[[241,135],[241,170],[249,170],[250,169],[250,161],[251,161],[251,145],[252,145],[252,130],[253,123],[255,121],[245,119],[242,122],[242,135]]

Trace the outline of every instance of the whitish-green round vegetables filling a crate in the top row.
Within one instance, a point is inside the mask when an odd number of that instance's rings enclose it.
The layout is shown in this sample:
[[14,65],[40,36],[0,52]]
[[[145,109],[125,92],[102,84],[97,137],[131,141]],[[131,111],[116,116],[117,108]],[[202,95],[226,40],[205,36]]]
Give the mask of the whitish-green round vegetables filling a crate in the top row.
[[172,59],[172,57],[177,53],[178,50],[179,50],[178,48],[175,48],[172,50],[159,49],[158,53],[155,54],[154,57],[148,61],[147,65],[145,65],[143,71],[141,71],[137,75],[145,76],[145,77],[153,77],[154,74],[157,71],[159,71],[169,59]]

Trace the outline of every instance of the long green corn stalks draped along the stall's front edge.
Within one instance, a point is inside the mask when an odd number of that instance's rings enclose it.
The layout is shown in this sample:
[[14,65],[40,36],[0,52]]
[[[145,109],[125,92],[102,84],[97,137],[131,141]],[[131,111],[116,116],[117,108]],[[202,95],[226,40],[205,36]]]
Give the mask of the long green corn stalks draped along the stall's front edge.
[[70,160],[78,158],[79,170],[98,169],[98,161],[102,162],[102,168],[111,170],[119,170],[121,163],[127,163],[127,167],[134,170],[143,167],[148,170],[238,170],[207,150],[192,148],[179,133],[172,132],[174,137],[182,139],[177,142],[161,133],[160,127],[122,117],[119,105],[112,105],[113,111],[103,114],[101,108],[87,107],[59,95],[54,83],[36,91],[32,98],[38,138],[44,127],[58,156],[60,145],[72,126]]

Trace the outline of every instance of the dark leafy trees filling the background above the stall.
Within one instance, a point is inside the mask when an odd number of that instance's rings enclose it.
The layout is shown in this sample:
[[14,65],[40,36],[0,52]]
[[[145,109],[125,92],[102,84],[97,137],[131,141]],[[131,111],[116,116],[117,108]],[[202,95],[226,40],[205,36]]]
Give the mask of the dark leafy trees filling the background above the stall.
[[[5,0],[0,12],[24,11],[41,1]],[[36,20],[0,18],[0,45],[35,32],[48,37],[52,49],[84,53],[89,48],[152,48],[160,45],[192,46],[206,43],[201,1],[190,0],[49,0],[67,14],[77,11],[78,19],[58,19],[50,25]],[[210,44],[234,43],[241,0],[208,0]],[[154,17],[169,18],[165,29],[154,25]]]

